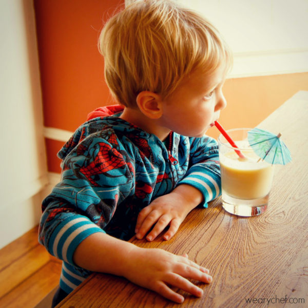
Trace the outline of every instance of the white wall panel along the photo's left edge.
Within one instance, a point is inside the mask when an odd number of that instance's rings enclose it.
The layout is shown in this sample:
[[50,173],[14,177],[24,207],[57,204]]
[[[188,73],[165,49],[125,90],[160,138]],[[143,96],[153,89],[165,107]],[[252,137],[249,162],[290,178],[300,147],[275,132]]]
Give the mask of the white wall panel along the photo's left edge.
[[0,248],[38,223],[47,184],[32,0],[0,1]]

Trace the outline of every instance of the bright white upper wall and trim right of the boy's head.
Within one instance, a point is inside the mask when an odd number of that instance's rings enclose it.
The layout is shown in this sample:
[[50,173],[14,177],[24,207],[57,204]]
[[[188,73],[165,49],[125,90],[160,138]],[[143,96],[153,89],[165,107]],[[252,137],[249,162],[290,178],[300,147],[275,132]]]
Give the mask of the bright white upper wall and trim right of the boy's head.
[[197,10],[235,54],[229,77],[308,71],[307,0],[176,0]]

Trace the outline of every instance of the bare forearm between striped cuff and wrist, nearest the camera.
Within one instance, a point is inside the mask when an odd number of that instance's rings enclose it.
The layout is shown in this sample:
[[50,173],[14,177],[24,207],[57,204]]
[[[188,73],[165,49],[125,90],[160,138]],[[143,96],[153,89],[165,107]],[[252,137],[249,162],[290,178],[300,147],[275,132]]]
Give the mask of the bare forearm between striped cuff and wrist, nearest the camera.
[[94,233],[76,248],[73,260],[80,267],[92,272],[125,276],[129,271],[127,256],[138,247],[105,233]]

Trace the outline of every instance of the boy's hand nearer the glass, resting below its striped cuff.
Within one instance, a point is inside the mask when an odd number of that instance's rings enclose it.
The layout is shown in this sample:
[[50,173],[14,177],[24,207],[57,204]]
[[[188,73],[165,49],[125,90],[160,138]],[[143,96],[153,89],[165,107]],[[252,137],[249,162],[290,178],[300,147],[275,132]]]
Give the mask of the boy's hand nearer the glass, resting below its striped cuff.
[[170,239],[175,235],[189,211],[201,201],[201,192],[189,185],[180,185],[170,194],[158,197],[140,211],[135,229],[136,237],[142,239],[155,224],[146,239],[152,241],[168,225],[169,229],[164,239]]

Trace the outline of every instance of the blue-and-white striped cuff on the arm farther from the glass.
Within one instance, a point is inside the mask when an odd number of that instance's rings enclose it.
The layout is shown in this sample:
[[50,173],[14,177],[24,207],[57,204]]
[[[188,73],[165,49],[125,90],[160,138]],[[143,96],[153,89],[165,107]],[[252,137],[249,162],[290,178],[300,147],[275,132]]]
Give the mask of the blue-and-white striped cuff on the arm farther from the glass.
[[89,235],[106,233],[82,215],[71,215],[58,225],[50,237],[49,252],[58,259],[74,264],[73,254],[78,245]]

